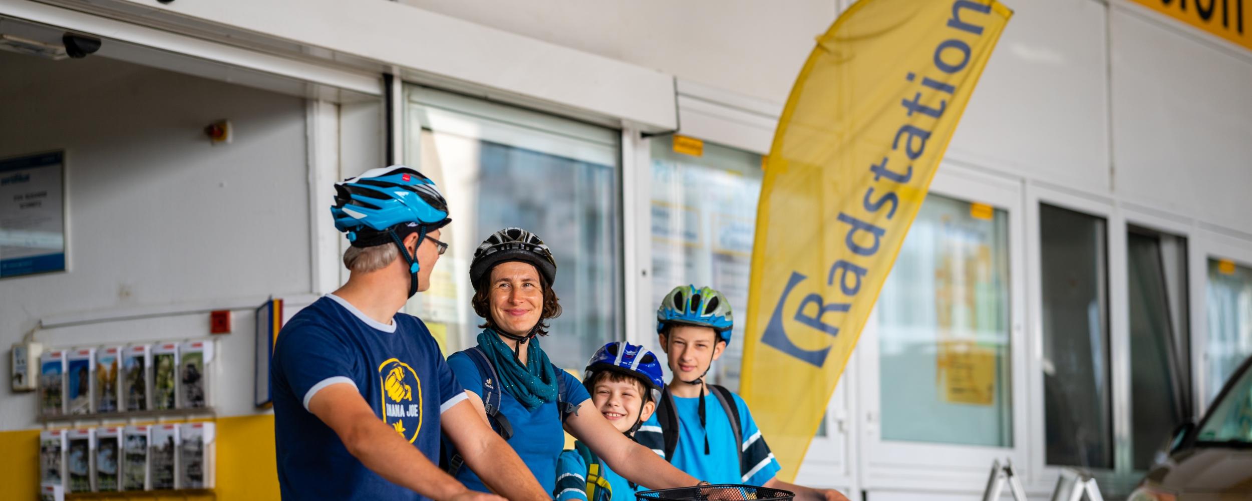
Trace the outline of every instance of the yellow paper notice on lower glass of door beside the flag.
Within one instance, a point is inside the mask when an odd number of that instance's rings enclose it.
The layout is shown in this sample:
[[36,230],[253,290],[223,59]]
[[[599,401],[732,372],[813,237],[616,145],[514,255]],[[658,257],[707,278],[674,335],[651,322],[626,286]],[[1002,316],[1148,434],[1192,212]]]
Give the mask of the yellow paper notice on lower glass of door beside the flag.
[[995,402],[995,351],[972,342],[939,343],[939,393],[952,403]]

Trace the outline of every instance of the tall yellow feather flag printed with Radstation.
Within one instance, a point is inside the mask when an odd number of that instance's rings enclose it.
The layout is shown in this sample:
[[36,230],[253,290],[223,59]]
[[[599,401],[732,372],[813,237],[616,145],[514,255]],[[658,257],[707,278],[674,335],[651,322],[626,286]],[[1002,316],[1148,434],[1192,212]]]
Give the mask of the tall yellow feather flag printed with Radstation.
[[818,39],[765,165],[741,393],[791,481],[1013,13],[860,0]]

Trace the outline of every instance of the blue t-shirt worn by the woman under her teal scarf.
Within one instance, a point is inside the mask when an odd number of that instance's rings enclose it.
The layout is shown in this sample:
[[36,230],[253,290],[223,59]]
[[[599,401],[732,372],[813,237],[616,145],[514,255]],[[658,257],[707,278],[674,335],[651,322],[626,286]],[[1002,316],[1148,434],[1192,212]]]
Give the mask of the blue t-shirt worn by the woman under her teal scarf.
[[[462,387],[477,393],[480,398],[482,397],[482,374],[478,373],[478,367],[473,364],[470,356],[461,352],[452,353],[448,357],[448,366],[452,367],[452,373],[456,374],[457,382]],[[556,369],[556,373],[557,377],[565,378],[563,401],[577,406],[591,400],[587,388],[583,388],[576,377],[561,369]],[[543,491],[552,492],[556,481],[556,458],[565,450],[565,428],[561,427],[556,401],[545,402],[533,411],[527,411],[526,406],[506,390],[500,396],[500,413],[508,418],[508,423],[513,427],[513,436],[508,440],[508,445],[531,468],[531,473],[543,486]],[[490,492],[468,466],[457,470],[456,477],[468,488]]]

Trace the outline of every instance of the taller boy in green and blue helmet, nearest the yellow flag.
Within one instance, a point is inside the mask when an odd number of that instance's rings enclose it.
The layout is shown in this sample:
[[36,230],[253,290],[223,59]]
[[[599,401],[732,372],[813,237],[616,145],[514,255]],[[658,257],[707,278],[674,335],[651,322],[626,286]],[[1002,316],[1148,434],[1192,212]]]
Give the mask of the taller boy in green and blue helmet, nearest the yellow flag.
[[730,343],[730,303],[717,291],[676,287],[656,311],[656,331],[674,377],[635,440],[670,463],[712,483],[746,483],[798,500],[848,501],[835,490],[777,480],[781,467],[744,400],[704,377]]

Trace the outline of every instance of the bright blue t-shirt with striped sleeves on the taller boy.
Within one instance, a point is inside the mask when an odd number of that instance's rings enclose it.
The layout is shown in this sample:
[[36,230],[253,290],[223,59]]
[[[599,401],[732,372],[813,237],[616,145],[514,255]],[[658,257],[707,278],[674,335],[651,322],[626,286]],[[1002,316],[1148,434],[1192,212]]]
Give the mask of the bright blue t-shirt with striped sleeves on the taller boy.
[[[711,483],[746,483],[764,486],[777,475],[781,467],[774,458],[774,452],[761,438],[761,431],[752,420],[736,393],[735,406],[739,407],[742,443],[735,443],[735,431],[730,427],[730,416],[722,408],[716,395],[705,395],[705,423],[709,427],[709,453],[704,453],[705,430],[700,427],[700,398],[674,397],[674,411],[679,416],[679,443],[674,447],[674,467]],[[636,441],[664,453],[656,443],[661,443],[661,423],[654,413],[636,432]],[[739,463],[739,451],[744,452],[744,463]]]

